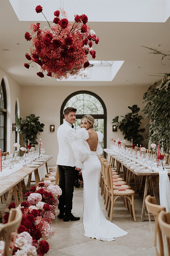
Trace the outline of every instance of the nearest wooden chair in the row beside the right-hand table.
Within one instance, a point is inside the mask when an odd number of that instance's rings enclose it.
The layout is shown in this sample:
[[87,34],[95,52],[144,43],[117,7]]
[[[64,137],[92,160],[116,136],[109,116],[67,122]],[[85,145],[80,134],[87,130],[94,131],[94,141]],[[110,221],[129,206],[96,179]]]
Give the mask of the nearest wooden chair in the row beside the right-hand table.
[[[135,206],[134,206],[134,194],[135,191],[132,189],[125,189],[123,191],[120,191],[119,189],[114,190],[113,189],[113,179],[112,179],[112,171],[111,168],[109,168],[109,164],[104,164],[104,167],[106,168],[107,173],[107,180],[108,180],[108,194],[109,194],[109,209],[108,209],[108,215],[110,216],[110,221],[112,222],[112,216],[113,216],[113,207],[115,204],[115,201],[119,197],[126,197],[129,200],[129,210],[131,216],[133,216],[134,221],[136,222],[136,216],[135,216]],[[114,198],[114,196],[116,196]],[[132,206],[132,208],[131,208]]]

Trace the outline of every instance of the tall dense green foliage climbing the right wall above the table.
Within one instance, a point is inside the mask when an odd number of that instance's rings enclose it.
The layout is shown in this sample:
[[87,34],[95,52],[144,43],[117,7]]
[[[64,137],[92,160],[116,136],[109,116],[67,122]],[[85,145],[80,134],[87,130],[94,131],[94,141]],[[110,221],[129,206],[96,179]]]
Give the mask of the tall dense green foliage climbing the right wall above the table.
[[161,84],[155,83],[144,93],[145,118],[149,118],[147,141],[158,145],[164,152],[170,152],[170,74],[165,74]]

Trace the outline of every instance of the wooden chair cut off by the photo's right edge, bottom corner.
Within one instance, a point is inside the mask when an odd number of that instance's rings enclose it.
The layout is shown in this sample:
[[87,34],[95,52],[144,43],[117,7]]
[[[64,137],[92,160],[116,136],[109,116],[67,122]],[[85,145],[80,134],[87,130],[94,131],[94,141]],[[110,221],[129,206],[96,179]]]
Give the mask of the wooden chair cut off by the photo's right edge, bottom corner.
[[160,230],[166,236],[168,256],[170,256],[170,214],[169,212],[161,211],[158,216]]

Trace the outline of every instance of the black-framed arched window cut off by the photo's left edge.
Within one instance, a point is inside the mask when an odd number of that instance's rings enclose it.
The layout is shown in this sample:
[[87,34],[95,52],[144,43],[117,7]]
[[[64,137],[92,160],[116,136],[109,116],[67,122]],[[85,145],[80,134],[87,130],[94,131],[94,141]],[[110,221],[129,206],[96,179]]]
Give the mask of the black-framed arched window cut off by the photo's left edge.
[[6,90],[4,79],[0,87],[0,148],[2,152],[6,151]]

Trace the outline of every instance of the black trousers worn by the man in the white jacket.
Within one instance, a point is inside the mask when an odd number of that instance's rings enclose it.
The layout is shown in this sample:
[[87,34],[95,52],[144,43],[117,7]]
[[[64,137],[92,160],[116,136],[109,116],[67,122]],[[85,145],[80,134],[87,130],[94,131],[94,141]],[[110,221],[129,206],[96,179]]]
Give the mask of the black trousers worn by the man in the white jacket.
[[58,209],[65,212],[66,215],[71,214],[74,183],[77,178],[75,167],[58,165],[59,186],[62,189],[62,196],[59,197]]

